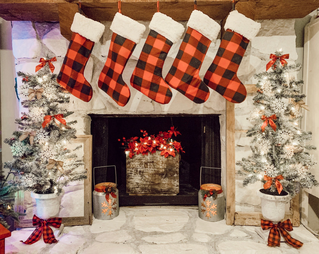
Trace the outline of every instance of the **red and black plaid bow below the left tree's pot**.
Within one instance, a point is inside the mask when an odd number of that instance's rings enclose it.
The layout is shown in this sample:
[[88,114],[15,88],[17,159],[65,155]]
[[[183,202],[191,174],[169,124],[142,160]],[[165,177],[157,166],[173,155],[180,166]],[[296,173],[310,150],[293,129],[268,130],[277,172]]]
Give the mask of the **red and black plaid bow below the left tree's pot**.
[[23,241],[20,241],[20,242],[25,244],[33,244],[39,241],[41,238],[41,235],[43,235],[43,241],[45,243],[57,243],[58,240],[56,240],[56,238],[54,237],[53,231],[49,226],[60,228],[61,223],[62,223],[62,218],[55,217],[48,220],[42,220],[34,214],[32,219],[32,225],[37,226],[37,228],[34,229],[32,234],[29,236],[29,238],[25,242]]

